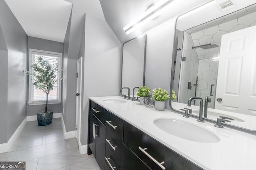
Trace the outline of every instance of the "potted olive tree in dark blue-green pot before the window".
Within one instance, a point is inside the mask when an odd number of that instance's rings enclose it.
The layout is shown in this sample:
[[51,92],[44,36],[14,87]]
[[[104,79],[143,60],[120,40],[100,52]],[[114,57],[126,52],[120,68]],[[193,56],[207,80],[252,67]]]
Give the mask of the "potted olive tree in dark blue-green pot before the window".
[[32,78],[33,86],[46,93],[45,109],[37,113],[38,125],[50,125],[53,112],[47,110],[48,95],[58,81],[56,73],[58,72],[59,65],[49,63],[48,60],[44,59],[43,55],[40,55],[30,67],[32,69],[27,71],[27,73]]

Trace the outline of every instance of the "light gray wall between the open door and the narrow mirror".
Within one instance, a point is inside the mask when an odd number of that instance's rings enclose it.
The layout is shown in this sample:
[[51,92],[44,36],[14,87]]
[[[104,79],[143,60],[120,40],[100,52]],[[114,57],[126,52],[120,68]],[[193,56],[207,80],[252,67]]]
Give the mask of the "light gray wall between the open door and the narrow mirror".
[[106,21],[86,14],[82,145],[87,144],[89,97],[118,96],[121,43]]

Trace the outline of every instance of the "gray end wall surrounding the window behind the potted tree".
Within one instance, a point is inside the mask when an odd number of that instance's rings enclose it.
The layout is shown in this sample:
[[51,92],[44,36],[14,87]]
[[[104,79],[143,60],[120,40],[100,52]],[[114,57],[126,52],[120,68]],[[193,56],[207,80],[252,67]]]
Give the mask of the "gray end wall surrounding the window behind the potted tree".
[[[29,60],[29,49],[38,49],[38,50],[62,53],[62,58],[63,58],[63,43],[60,43],[60,42],[28,36],[28,60]],[[28,61],[27,70],[28,69],[29,69],[29,61]],[[28,91],[28,86],[27,86],[27,91]],[[27,101],[28,101],[28,98],[27,98]],[[27,116],[37,115],[38,111],[44,110],[44,107],[45,105],[28,105],[27,104]],[[53,113],[62,113],[62,103],[48,104],[47,109],[52,110]]]

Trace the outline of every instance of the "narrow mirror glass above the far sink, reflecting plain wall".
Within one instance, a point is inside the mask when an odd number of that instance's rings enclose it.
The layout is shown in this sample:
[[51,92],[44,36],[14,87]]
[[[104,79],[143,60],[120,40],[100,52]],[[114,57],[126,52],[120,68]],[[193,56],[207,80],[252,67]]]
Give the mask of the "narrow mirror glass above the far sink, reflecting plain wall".
[[[133,88],[145,84],[146,34],[125,42],[122,55],[121,88],[128,87],[132,97]],[[121,94],[127,96],[128,89],[122,89]]]

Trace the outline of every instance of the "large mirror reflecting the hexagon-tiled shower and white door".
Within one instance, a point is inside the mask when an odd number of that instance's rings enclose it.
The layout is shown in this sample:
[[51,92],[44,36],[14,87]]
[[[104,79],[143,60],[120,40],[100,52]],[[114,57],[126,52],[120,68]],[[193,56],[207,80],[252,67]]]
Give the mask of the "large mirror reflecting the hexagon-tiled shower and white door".
[[[178,18],[176,28],[179,24]],[[234,120],[227,124],[256,130],[256,36],[247,41],[249,31],[256,32],[256,4],[190,29],[177,29],[171,79],[177,98],[170,101],[171,109],[180,112],[188,107],[189,98],[205,101],[208,96],[208,119],[229,117]],[[246,48],[248,52],[240,52]],[[199,114],[198,101],[190,108],[192,114]]]

